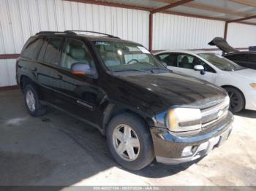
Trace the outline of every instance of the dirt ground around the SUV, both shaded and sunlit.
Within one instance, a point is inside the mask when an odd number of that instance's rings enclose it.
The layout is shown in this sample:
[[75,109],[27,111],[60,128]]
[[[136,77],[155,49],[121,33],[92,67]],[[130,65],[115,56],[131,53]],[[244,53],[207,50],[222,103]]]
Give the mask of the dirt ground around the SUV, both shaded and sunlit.
[[0,92],[0,173],[0,185],[256,186],[256,112],[236,115],[230,139],[201,160],[127,171],[94,128],[55,109],[31,117],[19,90]]

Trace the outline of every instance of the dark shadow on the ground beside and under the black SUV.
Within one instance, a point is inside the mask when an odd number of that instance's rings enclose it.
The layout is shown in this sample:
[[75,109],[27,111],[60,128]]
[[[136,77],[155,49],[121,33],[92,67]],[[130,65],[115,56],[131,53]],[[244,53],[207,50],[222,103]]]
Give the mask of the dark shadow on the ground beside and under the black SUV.
[[[31,117],[18,91],[0,93],[0,106],[4,111],[0,113],[1,185],[68,186],[109,168],[121,168],[110,156],[105,137],[83,122],[51,108],[44,117]],[[141,171],[129,172],[159,178],[192,164],[154,161]]]

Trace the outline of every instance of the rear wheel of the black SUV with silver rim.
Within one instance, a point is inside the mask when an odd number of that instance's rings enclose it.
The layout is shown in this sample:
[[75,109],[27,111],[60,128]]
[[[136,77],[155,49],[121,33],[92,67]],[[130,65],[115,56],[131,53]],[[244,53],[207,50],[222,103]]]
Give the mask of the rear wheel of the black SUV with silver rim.
[[26,87],[23,89],[23,93],[24,103],[31,116],[39,117],[46,113],[46,106],[40,104],[37,91],[33,85],[26,85]]

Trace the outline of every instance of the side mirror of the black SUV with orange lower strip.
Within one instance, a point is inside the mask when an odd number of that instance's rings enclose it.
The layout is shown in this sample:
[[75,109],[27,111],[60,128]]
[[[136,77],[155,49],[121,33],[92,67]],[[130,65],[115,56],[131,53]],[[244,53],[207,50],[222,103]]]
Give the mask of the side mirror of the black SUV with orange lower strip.
[[78,76],[93,75],[94,71],[91,70],[89,63],[73,63],[71,66],[71,74]]

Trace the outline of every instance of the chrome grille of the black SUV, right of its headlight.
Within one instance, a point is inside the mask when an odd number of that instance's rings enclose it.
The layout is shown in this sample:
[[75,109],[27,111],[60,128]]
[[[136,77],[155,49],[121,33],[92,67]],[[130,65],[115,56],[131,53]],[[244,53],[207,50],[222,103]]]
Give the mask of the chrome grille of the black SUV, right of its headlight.
[[228,112],[228,103],[225,101],[211,106],[207,109],[201,109],[202,113],[202,127],[206,128],[208,125],[211,125],[213,122],[217,122],[222,117],[225,117]]

